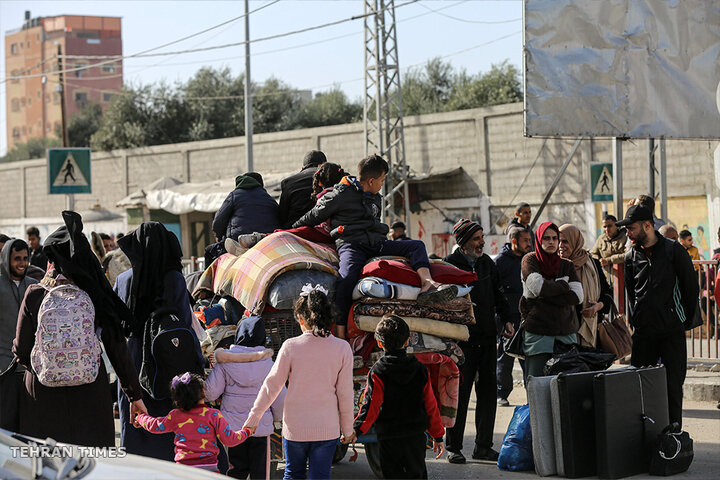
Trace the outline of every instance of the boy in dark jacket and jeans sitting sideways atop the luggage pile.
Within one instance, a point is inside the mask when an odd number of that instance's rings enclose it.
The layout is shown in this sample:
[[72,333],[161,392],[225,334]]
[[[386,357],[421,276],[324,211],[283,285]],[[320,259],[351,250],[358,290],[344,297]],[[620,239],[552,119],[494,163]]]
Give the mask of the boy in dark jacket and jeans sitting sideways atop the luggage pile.
[[381,255],[407,257],[422,283],[418,303],[445,302],[457,295],[457,286],[440,285],[433,281],[423,242],[393,242],[387,239],[390,229],[380,222],[382,196],[379,192],[388,170],[387,162],[380,155],[370,155],[361,160],[358,178],[344,177],[332,192],[323,196],[312,210],[293,224],[293,228],[311,227],[328,219],[330,221],[330,235],[340,256],[340,279],[335,286],[337,336],[340,338],[345,338],[353,288],[369,258]]

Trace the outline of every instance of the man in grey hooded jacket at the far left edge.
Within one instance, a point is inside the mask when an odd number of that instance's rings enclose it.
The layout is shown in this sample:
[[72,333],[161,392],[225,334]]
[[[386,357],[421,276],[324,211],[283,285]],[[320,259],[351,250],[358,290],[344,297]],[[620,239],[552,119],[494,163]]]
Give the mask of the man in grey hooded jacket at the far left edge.
[[[25,290],[37,283],[25,275],[30,249],[23,240],[10,239],[0,251],[0,371],[12,362],[17,317]],[[3,382],[0,391],[0,427],[17,431],[18,402],[25,369],[18,368]]]

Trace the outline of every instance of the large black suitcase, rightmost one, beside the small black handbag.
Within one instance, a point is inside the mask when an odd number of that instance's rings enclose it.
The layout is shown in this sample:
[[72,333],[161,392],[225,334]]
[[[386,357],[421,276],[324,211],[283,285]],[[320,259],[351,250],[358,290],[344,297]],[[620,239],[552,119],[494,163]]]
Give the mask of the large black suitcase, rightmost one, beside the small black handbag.
[[597,373],[593,387],[598,477],[648,473],[653,444],[669,423],[665,367]]

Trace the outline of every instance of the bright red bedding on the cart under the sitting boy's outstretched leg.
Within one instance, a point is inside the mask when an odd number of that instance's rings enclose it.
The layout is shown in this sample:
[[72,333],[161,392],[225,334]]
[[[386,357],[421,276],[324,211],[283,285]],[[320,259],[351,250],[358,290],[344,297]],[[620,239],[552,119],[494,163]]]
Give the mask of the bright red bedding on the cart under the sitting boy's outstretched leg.
[[[439,283],[463,284],[477,281],[477,275],[452,265],[430,264],[430,274]],[[413,287],[421,286],[420,277],[410,265],[398,260],[378,260],[363,268],[360,278],[380,277],[390,282],[402,283]]]

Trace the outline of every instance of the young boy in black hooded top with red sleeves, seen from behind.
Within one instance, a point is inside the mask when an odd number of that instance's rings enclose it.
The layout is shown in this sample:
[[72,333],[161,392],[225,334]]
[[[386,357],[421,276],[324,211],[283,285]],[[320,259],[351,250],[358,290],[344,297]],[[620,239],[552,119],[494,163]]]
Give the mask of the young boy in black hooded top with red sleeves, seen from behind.
[[438,453],[435,458],[445,451],[445,428],[427,368],[405,353],[409,337],[407,323],[397,315],[385,315],[378,323],[375,339],[385,355],[370,369],[355,418],[356,436],[375,424],[384,478],[427,478],[426,430]]

